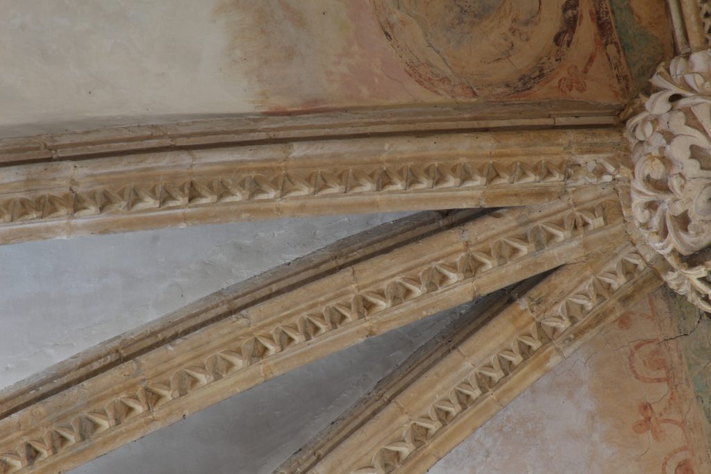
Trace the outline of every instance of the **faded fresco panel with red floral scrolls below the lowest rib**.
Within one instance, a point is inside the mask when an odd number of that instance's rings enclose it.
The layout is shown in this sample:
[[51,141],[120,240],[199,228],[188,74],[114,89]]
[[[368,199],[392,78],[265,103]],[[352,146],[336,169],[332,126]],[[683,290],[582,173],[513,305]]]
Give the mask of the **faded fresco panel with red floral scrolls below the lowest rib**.
[[711,321],[700,316],[656,291],[430,473],[711,473]]

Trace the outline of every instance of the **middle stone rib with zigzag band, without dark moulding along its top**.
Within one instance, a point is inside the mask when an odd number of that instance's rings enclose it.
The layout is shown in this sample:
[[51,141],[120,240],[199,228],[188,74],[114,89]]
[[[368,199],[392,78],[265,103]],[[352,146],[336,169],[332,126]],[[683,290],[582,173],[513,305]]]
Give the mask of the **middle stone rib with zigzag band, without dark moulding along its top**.
[[625,241],[616,193],[595,186],[461,222],[238,311],[208,298],[204,311],[225,318],[0,420],[0,473],[63,472],[372,335]]

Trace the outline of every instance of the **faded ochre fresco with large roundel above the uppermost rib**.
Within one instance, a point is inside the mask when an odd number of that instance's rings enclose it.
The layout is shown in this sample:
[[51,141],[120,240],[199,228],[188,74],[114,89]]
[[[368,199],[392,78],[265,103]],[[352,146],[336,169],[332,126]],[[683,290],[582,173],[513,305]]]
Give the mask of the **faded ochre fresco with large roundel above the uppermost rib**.
[[255,105],[279,110],[624,104],[673,55],[665,12],[663,0],[219,0],[214,17]]

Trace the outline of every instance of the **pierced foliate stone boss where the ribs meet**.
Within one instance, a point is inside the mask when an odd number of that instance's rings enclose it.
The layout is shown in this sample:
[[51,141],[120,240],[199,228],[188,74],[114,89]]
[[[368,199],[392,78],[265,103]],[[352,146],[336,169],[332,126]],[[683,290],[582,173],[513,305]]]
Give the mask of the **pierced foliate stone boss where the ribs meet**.
[[627,123],[631,208],[644,242],[672,269],[669,286],[711,311],[711,50],[678,57],[652,77]]

